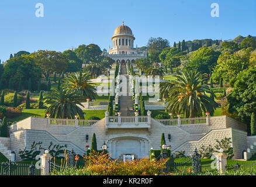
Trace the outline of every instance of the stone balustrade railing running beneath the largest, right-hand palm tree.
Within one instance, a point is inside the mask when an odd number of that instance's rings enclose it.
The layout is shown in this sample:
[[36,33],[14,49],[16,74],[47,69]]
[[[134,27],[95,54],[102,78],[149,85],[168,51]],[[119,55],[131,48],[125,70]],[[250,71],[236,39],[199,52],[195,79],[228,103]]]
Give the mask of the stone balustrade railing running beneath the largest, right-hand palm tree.
[[165,126],[184,125],[184,124],[209,124],[209,117],[194,117],[194,118],[180,118],[180,119],[157,119],[157,122]]

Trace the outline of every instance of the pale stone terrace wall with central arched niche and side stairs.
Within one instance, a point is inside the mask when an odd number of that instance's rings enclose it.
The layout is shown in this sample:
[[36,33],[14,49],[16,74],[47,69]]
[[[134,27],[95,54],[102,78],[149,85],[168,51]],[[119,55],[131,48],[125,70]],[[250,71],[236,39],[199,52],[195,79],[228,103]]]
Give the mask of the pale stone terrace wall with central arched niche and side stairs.
[[[245,131],[236,130],[244,128],[245,124],[237,124],[236,120],[228,119],[226,116],[209,117],[209,124],[189,124],[182,126],[164,126],[151,118],[151,129],[108,129],[106,130],[105,119],[100,120],[93,126],[65,126],[48,124],[46,118],[29,117],[16,125],[11,126],[11,150],[18,153],[19,149],[30,146],[33,141],[43,141],[43,147],[54,144],[67,144],[68,149],[74,148],[78,154],[85,153],[85,146],[91,147],[92,134],[96,134],[98,150],[102,144],[108,145],[108,150],[113,158],[120,158],[122,154],[134,154],[136,158],[148,155],[150,147],[160,149],[161,134],[165,134],[167,145],[171,144],[172,151],[185,150],[191,154],[202,145],[214,146],[216,139],[224,137],[233,139],[235,158],[241,158],[241,153],[247,147],[247,136]],[[122,125],[122,124],[121,124]],[[233,128],[231,128],[233,127]],[[136,127],[134,127],[136,128]],[[26,130],[25,130],[26,129]],[[171,141],[168,140],[171,134]],[[88,142],[86,135],[89,135]],[[255,138],[256,139],[256,138]],[[120,145],[124,148],[120,148]],[[133,146],[133,147],[132,147]],[[127,147],[127,150],[125,150]],[[133,148],[134,151],[131,151]],[[128,153],[129,152],[129,153]]]

